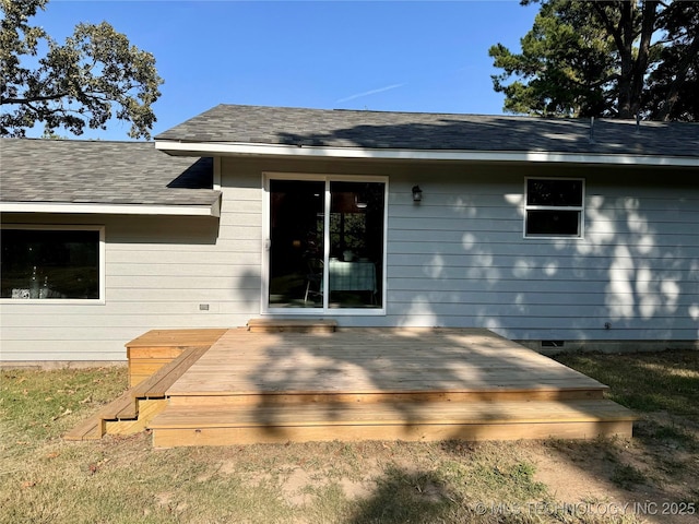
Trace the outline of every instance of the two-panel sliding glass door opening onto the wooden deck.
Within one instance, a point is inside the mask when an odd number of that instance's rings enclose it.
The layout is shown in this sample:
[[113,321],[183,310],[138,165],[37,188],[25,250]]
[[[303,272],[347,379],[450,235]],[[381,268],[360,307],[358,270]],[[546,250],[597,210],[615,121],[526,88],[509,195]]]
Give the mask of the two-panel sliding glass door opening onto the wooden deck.
[[268,311],[382,310],[386,181],[270,177],[266,189]]

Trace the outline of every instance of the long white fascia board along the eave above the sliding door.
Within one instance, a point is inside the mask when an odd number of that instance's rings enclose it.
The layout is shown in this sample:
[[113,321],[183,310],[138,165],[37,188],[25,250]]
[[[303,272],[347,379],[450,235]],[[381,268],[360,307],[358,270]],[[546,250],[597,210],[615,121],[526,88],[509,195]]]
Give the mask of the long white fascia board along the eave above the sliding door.
[[613,164],[640,166],[699,167],[699,158],[682,156],[614,155],[597,153],[555,153],[526,151],[465,150],[370,150],[362,147],[320,147],[235,142],[155,142],[155,148],[170,155],[292,156],[317,158],[357,158],[389,160],[464,162],[547,162],[560,164]]

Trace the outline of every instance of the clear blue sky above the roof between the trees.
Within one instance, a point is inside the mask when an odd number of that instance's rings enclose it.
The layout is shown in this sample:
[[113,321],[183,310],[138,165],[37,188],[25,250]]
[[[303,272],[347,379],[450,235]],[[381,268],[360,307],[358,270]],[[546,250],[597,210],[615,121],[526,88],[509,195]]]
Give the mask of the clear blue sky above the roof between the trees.
[[[79,22],[107,21],[152,52],[165,80],[155,135],[222,103],[500,114],[488,47],[519,49],[536,11],[514,0],[51,0],[33,22],[62,41]],[[129,140],[128,129],[81,139]]]

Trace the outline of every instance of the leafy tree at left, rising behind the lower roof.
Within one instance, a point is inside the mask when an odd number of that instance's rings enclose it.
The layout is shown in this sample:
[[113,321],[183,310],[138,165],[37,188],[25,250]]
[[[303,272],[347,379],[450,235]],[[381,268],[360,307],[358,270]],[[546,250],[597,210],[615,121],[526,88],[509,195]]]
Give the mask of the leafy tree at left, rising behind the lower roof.
[[24,136],[36,122],[48,135],[59,128],[80,135],[116,117],[131,122],[129,136],[150,139],[163,83],[153,55],[106,22],[78,24],[59,45],[28,23],[48,0],[0,1],[0,135]]

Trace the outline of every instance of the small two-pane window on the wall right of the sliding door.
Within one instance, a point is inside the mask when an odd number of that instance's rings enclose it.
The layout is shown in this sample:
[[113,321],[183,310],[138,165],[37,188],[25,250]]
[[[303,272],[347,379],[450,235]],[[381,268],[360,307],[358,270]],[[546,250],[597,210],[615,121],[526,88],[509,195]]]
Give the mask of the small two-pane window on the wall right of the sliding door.
[[528,178],[525,237],[582,237],[584,180]]

